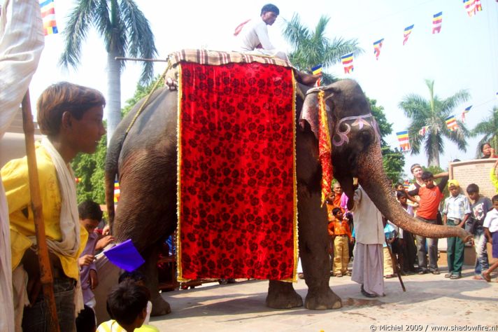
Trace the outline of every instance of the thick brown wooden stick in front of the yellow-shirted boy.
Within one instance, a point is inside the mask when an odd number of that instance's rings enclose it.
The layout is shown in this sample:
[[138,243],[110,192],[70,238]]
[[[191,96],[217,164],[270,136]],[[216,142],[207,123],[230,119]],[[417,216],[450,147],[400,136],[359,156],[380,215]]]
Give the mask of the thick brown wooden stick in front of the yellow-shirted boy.
[[22,128],[26,141],[26,155],[28,161],[29,191],[31,192],[31,209],[33,210],[34,227],[36,231],[36,243],[38,244],[38,264],[40,265],[40,281],[43,286],[43,298],[49,312],[49,331],[59,331],[57,320],[57,307],[55,305],[54,284],[52,279],[52,268],[48,258],[48,247],[45,240],[45,221],[41,206],[40,184],[38,183],[38,167],[36,166],[36,155],[34,151],[34,124],[31,114],[31,102],[29,101],[29,90],[22,99]]

